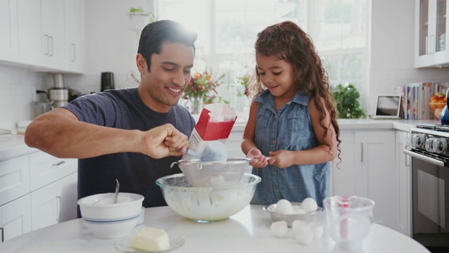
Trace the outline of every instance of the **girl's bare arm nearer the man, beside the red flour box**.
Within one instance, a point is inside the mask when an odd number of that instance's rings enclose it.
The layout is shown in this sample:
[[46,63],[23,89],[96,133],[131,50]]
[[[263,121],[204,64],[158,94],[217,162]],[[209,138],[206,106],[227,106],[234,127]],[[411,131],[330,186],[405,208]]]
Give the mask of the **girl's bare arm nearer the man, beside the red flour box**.
[[246,157],[253,158],[250,165],[256,168],[267,166],[267,157],[264,157],[254,143],[255,140],[255,124],[257,120],[257,102],[252,101],[250,105],[250,115],[246,122],[245,131],[243,132],[243,140],[241,141],[241,150]]

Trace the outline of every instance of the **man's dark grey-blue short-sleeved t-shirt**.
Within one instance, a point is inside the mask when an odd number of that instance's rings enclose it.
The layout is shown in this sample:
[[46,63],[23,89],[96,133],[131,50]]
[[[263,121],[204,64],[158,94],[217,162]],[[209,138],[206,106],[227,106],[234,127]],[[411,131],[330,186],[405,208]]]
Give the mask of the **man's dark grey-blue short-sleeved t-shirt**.
[[[186,136],[192,134],[195,121],[181,105],[168,113],[154,112],[140,99],[136,88],[109,90],[82,96],[63,108],[70,110],[81,122],[118,129],[146,131],[170,123]],[[86,133],[87,135],[88,133]],[[138,193],[145,197],[144,207],[167,205],[156,179],[180,173],[179,167],[170,164],[181,157],[154,159],[141,153],[116,153],[101,155],[78,162],[78,198],[97,193],[113,193],[115,179],[123,193]],[[78,213],[80,216],[80,213]]]

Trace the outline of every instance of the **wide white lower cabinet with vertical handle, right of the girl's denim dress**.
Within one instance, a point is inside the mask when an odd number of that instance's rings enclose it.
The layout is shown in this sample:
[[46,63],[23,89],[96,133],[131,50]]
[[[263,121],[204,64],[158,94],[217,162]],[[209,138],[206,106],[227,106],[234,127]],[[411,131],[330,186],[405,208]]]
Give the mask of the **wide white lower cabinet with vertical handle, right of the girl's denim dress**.
[[374,221],[396,228],[395,131],[342,131],[342,163],[333,162],[332,194],[375,201]]

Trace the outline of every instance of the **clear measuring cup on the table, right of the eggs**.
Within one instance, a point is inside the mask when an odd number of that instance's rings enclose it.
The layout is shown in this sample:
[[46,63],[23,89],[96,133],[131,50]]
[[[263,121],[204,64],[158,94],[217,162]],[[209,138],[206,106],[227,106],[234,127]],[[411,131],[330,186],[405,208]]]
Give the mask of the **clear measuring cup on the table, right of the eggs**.
[[366,197],[326,197],[323,200],[330,238],[345,251],[360,251],[373,223],[375,202]]

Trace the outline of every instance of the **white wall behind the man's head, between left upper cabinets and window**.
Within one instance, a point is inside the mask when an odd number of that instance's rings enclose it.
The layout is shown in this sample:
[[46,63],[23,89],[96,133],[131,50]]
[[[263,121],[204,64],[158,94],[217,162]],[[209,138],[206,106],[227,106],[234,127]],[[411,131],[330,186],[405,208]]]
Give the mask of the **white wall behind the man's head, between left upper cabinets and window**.
[[130,30],[128,13],[131,7],[154,12],[153,5],[153,0],[86,0],[86,72],[83,77],[67,75],[67,86],[98,92],[101,72],[114,72],[116,88],[137,86],[131,73],[140,79],[135,66],[140,32]]

